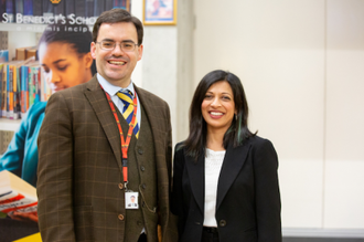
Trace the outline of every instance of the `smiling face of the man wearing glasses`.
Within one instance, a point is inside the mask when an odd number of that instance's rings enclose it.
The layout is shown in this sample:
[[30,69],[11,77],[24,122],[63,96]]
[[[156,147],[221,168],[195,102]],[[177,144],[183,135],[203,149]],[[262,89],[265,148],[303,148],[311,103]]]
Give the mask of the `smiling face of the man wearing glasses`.
[[96,60],[97,72],[109,83],[127,87],[131,73],[142,56],[142,45],[133,51],[125,52],[121,42],[138,43],[137,29],[131,22],[103,23],[98,30],[97,42],[114,41],[116,46],[111,51],[101,50],[100,44],[92,43],[92,55]]

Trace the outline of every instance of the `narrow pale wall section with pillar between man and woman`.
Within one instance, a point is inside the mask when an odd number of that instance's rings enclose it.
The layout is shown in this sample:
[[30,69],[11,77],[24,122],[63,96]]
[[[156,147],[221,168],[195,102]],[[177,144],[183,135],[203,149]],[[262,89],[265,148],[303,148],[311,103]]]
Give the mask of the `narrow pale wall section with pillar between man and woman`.
[[[142,19],[142,1],[132,1],[132,14]],[[171,109],[173,147],[186,138],[192,80],[192,0],[178,1],[176,25],[146,25],[143,56],[132,80],[163,98]]]

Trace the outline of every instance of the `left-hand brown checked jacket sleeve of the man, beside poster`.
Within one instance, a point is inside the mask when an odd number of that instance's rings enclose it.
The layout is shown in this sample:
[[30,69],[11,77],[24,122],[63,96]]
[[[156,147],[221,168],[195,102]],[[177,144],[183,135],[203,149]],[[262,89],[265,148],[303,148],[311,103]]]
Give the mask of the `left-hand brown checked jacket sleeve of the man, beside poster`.
[[40,130],[38,197],[43,242],[74,242],[72,115],[61,93],[51,96]]

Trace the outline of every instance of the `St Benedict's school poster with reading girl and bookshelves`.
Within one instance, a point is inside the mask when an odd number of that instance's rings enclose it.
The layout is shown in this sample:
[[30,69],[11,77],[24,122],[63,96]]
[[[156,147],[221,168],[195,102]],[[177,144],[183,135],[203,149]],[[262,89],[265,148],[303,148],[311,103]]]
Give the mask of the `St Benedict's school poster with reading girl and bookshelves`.
[[[25,241],[39,232],[36,139],[46,101],[96,73],[94,61],[83,60],[90,56],[93,24],[113,8],[130,11],[130,0],[0,0],[0,31],[42,32],[36,46],[17,46],[13,60],[0,60],[0,118],[21,119],[0,154],[1,242]],[[86,69],[72,70],[71,63]]]

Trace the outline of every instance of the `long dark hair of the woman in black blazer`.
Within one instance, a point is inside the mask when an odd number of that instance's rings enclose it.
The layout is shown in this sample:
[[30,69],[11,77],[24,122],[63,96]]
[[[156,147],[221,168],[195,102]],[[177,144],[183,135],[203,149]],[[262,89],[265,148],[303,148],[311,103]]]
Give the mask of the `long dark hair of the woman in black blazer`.
[[234,95],[235,109],[237,111],[231,127],[224,136],[223,145],[225,149],[231,140],[234,141],[234,147],[236,147],[242,145],[249,137],[256,135],[256,133],[253,134],[248,129],[248,104],[240,80],[233,73],[222,70],[210,72],[201,80],[193,95],[190,106],[190,135],[183,144],[186,154],[194,157],[195,160],[197,160],[197,157],[201,155],[201,148],[204,151],[206,147],[207,127],[206,122],[202,116],[201,105],[205,98],[207,90],[213,84],[221,81],[225,81],[231,85]]

